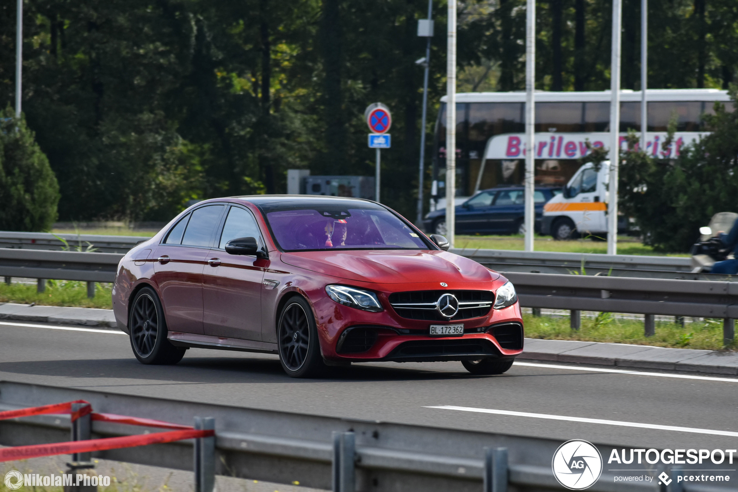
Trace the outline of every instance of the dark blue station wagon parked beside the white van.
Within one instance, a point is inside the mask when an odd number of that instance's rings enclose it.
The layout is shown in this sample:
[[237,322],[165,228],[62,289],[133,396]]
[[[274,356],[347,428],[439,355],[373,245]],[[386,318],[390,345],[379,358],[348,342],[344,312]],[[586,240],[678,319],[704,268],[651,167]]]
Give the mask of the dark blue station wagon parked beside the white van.
[[[525,234],[523,187],[482,190],[456,207],[456,234]],[[537,188],[536,232],[540,231],[543,205],[561,193],[560,188]],[[428,213],[423,226],[430,234],[446,235],[446,209]]]

